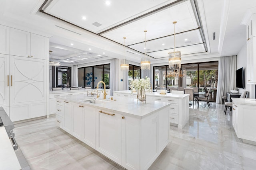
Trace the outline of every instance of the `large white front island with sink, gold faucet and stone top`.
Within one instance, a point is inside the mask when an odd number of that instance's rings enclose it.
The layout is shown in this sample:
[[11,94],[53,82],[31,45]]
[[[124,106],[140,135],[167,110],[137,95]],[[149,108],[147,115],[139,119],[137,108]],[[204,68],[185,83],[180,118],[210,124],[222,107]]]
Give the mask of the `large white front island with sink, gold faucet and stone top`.
[[56,96],[56,123],[128,170],[146,170],[169,142],[167,102]]

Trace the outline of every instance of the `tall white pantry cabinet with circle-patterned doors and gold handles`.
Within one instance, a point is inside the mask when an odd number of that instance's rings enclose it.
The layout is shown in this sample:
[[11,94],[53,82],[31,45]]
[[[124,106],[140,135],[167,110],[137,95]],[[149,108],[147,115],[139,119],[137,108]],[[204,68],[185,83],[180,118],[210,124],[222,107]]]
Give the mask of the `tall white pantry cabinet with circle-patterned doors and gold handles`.
[[47,37],[0,25],[0,106],[12,121],[47,115]]

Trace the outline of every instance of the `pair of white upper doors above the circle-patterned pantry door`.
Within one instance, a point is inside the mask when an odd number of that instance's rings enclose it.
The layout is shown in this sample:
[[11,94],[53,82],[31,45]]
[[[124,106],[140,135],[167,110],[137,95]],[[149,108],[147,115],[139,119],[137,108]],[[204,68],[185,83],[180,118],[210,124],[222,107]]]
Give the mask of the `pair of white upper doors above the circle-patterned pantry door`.
[[47,37],[10,28],[10,55],[47,59]]

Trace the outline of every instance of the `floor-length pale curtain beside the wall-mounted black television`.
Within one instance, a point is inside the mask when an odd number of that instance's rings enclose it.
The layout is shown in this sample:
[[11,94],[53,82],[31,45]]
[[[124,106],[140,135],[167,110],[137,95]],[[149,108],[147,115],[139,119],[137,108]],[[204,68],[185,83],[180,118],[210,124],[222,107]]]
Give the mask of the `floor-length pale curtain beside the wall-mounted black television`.
[[218,90],[216,103],[222,103],[222,96],[236,87],[236,55],[221,57],[218,66]]

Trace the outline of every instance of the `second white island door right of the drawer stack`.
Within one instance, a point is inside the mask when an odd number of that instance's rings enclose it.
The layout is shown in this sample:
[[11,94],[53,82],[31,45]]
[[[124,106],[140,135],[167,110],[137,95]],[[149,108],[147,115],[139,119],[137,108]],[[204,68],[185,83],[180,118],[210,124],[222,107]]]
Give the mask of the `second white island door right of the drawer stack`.
[[82,106],[81,104],[72,103],[72,128],[71,128],[71,134],[82,141]]

